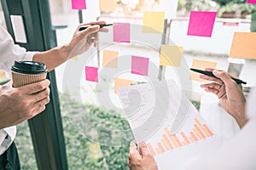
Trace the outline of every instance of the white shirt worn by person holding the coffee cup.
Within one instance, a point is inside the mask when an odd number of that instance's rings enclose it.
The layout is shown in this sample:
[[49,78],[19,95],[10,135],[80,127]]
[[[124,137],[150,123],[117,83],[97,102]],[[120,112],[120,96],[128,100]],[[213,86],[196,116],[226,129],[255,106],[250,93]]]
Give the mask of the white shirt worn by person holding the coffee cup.
[[[10,77],[10,68],[15,60],[32,60],[37,52],[26,52],[25,48],[15,45],[9,33],[0,26],[0,70],[6,71]],[[1,118],[1,117],[0,117]],[[15,139],[16,127],[0,129],[0,155],[9,148]]]

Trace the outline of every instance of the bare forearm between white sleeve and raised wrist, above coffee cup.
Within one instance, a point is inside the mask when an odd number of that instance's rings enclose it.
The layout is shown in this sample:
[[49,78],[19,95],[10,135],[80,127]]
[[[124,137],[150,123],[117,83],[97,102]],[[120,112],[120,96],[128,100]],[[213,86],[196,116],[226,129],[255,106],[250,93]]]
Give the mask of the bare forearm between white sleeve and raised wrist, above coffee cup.
[[38,61],[44,63],[48,71],[52,71],[58,65],[61,65],[67,59],[70,59],[70,48],[68,45],[64,45],[61,47],[52,48],[45,52],[40,52],[33,56],[33,61]]

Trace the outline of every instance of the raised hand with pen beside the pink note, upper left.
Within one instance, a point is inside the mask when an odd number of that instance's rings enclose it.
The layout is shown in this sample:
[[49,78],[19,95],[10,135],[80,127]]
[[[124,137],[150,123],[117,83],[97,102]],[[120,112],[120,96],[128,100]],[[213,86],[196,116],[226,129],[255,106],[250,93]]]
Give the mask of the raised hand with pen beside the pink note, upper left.
[[[69,59],[78,54],[83,54],[90,48],[93,43],[96,47],[98,43],[98,31],[108,32],[107,28],[100,29],[99,25],[106,24],[104,21],[90,22],[87,24],[81,24],[73,34],[71,42],[67,44],[70,52]],[[84,31],[79,31],[80,26],[90,26]]]

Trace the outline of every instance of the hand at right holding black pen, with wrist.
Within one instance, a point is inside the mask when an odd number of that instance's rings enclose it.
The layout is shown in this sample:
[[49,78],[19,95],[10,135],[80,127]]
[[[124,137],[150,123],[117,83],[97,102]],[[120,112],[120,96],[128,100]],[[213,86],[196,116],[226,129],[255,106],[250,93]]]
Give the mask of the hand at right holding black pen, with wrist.
[[236,119],[239,127],[243,127],[248,119],[245,111],[246,99],[242,93],[241,84],[237,84],[232,80],[231,77],[234,76],[225,71],[213,69],[206,69],[206,71],[212,71],[213,75],[218,78],[201,75],[200,77],[202,79],[213,81],[201,85],[201,88],[205,88],[207,92],[216,94],[224,110]]

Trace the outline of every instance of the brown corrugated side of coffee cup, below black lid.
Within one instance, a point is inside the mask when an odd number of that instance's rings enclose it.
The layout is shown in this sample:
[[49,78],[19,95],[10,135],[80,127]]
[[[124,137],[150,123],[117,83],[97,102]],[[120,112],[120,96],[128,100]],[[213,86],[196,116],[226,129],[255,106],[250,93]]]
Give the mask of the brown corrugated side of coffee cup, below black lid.
[[47,73],[32,75],[32,74],[22,74],[12,71],[13,87],[20,88],[34,82],[43,81],[46,78]]

